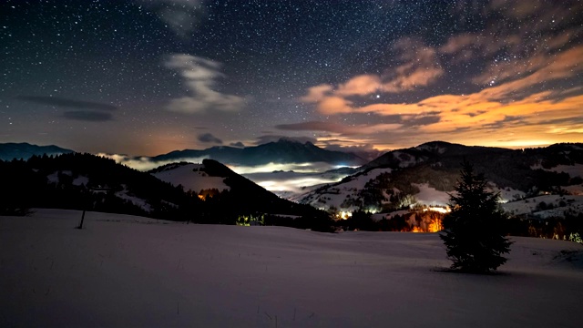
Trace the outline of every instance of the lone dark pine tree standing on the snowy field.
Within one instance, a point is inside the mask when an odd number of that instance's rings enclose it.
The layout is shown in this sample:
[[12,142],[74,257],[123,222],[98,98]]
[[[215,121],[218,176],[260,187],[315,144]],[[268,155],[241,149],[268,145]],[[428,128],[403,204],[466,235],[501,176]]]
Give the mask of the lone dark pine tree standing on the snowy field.
[[503,235],[505,215],[499,209],[498,193],[486,191],[484,174],[464,161],[461,179],[450,194],[452,211],[444,218],[444,241],[452,269],[486,273],[506,262],[511,241]]

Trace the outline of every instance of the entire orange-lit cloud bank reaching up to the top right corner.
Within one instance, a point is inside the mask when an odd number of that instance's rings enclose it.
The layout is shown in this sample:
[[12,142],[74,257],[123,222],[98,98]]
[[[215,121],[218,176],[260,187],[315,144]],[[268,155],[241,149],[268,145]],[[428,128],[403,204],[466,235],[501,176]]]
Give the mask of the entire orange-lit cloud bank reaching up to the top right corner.
[[[577,25],[583,3],[495,0],[455,6],[460,30],[472,32],[441,44],[433,40],[431,46],[404,37],[386,51],[391,66],[309,87],[301,98],[341,122],[363,122],[369,115],[368,124],[276,128],[329,132],[329,138],[318,137],[319,145],[328,139],[350,147],[362,138],[379,149],[432,139],[516,147],[583,138],[583,27]],[[477,16],[482,30],[468,24]]]

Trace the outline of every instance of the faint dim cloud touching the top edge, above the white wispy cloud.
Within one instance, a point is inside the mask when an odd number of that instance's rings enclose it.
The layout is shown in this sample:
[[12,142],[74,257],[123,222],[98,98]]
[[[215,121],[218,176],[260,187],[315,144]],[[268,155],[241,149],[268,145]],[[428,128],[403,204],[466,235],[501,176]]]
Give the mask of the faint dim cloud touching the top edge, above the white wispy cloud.
[[157,13],[176,35],[187,38],[198,26],[204,14],[202,0],[138,0]]

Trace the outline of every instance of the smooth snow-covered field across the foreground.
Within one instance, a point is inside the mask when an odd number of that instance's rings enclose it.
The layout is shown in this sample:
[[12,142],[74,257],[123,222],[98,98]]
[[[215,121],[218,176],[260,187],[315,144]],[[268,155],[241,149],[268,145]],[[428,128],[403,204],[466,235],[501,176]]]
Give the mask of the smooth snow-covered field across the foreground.
[[[497,275],[437,234],[37,210],[0,217],[1,327],[580,327],[583,246],[514,238]],[[561,254],[560,251],[573,251]],[[568,261],[571,260],[571,261]]]

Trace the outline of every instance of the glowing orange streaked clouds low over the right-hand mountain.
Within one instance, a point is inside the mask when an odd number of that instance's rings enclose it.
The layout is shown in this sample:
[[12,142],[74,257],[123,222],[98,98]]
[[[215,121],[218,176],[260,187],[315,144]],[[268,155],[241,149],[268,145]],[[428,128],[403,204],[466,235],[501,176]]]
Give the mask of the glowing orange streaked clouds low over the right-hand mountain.
[[[526,9],[525,9],[526,10]],[[517,15],[529,15],[522,7]],[[414,142],[418,134],[427,139],[447,139],[465,144],[516,146],[518,140],[536,145],[551,143],[550,140],[581,138],[580,108],[583,108],[581,87],[572,82],[568,89],[552,87],[583,73],[583,46],[569,43],[581,36],[581,29],[568,29],[543,40],[544,47],[526,43],[521,36],[503,36],[485,33],[452,36],[442,46],[424,46],[412,39],[403,39],[394,49],[403,49],[404,63],[389,68],[383,76],[360,75],[348,79],[337,87],[321,85],[308,90],[302,100],[312,102],[324,115],[374,114],[397,117],[399,124],[372,124],[367,127],[353,125],[350,128],[333,126],[323,122],[286,125],[283,128],[323,130],[349,135],[352,128],[363,131],[360,135],[373,139],[385,139],[383,132],[390,132],[398,142]],[[522,51],[522,53],[520,52]],[[493,56],[500,54],[503,56]],[[438,54],[445,58],[437,61]],[[436,78],[445,74],[442,65],[465,65],[465,60],[483,58],[486,63],[475,76],[467,77],[481,89],[467,94],[436,92],[417,102],[358,101],[373,94],[390,94],[430,86]],[[417,75],[424,72],[423,75]],[[387,79],[387,77],[392,77]],[[377,96],[378,98],[378,96]],[[282,127],[280,127],[282,128]],[[499,133],[499,137],[492,133]],[[410,138],[414,136],[413,138]],[[408,139],[407,139],[408,138]],[[321,141],[319,139],[319,141]],[[383,148],[386,142],[374,144]]]

